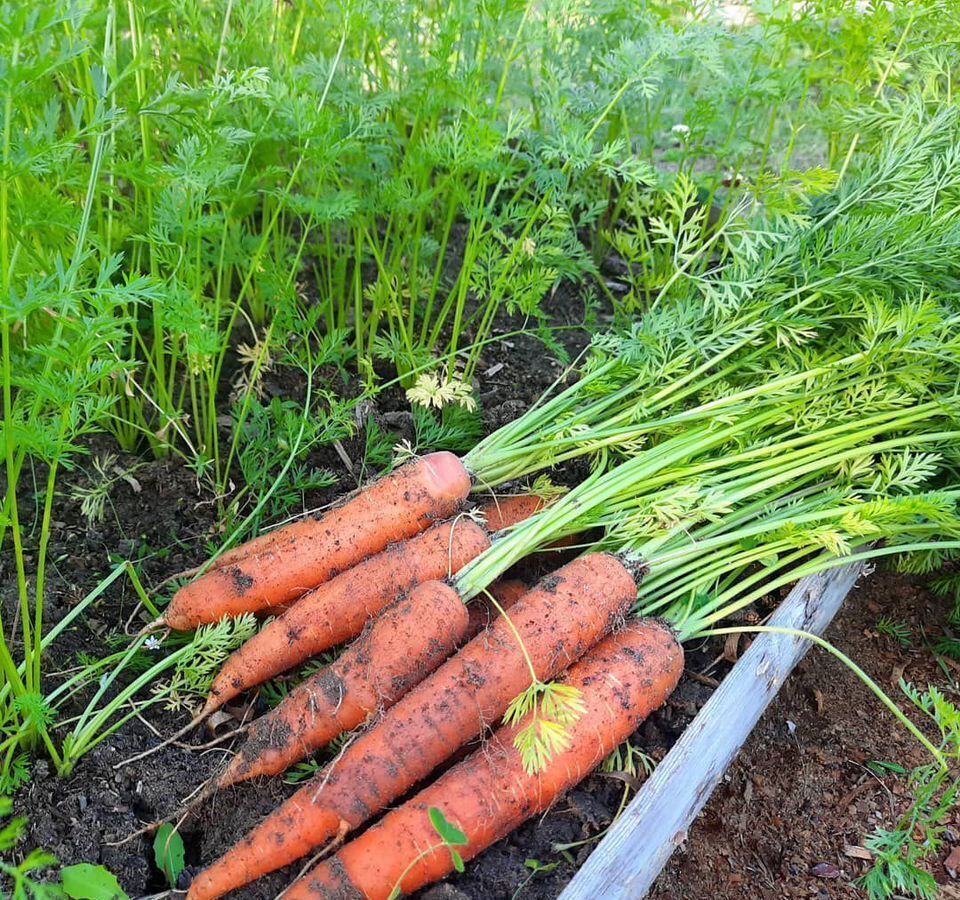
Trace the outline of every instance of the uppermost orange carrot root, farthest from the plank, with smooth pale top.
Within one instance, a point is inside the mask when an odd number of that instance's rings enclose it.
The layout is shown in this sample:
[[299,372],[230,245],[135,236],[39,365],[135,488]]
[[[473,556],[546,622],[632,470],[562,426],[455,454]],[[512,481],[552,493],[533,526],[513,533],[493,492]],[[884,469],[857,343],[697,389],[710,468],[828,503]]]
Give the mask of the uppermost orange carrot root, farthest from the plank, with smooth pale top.
[[164,624],[187,630],[293,600],[388,544],[453,515],[470,486],[469,474],[452,453],[408,463],[319,518],[266,536],[270,540],[253,556],[185,585],[170,602]]

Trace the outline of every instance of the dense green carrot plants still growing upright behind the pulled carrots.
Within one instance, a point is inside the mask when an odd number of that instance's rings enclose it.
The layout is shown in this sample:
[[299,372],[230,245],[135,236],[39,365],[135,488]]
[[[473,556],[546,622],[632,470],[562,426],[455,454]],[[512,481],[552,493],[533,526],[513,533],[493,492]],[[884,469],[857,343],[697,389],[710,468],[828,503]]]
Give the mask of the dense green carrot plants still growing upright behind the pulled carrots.
[[[726,215],[776,194],[797,141],[868,96],[878,66],[949,101],[939,7],[784,3],[739,27],[626,0],[18,8],[0,48],[5,288],[74,243],[81,282],[101,258],[145,279],[114,313],[109,428],[222,491],[238,362],[255,376],[309,321],[368,381],[379,359],[406,386],[436,361],[469,391],[498,310],[549,341],[553,291],[595,276],[601,227],[635,227],[647,193],[657,207],[664,165]],[[829,123],[840,147],[850,123]]]

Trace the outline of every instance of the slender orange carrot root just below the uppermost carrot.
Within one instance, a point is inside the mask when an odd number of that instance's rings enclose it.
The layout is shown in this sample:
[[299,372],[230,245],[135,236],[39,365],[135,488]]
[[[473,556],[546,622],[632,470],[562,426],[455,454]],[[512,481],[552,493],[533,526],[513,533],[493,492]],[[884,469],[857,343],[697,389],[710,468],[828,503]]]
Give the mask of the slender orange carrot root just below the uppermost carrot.
[[404,591],[445,578],[490,546],[470,519],[442,522],[393,544],[305,594],[234,651],[214,679],[198,719],[238,694],[356,637],[366,621]]

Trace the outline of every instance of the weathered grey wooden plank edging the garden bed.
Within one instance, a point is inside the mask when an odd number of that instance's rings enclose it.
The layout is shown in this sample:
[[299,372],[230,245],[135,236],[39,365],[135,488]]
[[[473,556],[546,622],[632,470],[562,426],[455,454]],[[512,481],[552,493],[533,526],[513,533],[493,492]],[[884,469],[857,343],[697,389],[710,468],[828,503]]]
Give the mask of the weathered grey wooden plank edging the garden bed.
[[[805,578],[770,625],[822,634],[863,563]],[[809,641],[760,634],[567,885],[560,900],[646,895]]]

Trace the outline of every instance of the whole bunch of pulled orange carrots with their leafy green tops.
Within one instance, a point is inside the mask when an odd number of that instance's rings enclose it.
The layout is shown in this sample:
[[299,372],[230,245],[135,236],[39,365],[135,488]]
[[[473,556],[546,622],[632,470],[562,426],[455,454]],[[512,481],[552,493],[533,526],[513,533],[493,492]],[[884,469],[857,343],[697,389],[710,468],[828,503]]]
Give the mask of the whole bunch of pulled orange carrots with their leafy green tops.
[[[828,217],[791,224],[755,254],[750,279],[736,268],[731,291],[751,286],[739,302],[705,316],[701,297],[657,298],[630,332],[596,341],[575,384],[463,459],[411,461],[320,517],[228,551],[176,594],[162,622],[174,629],[273,616],[191,726],[346,645],[252,724],[204,796],[366,725],[201,872],[190,898],[324,847],[339,849],[286,896],[415,890],[458,858],[438,843],[432,811],[462,832],[470,858],[546,809],[669,696],[683,642],[852,554],[960,550],[957,273],[938,264],[918,281],[900,248],[884,291],[867,290],[884,254],[871,247],[869,268],[847,268],[830,255],[840,237],[821,239],[829,225],[847,241],[879,240],[865,198],[871,178],[888,176],[868,172]],[[937,221],[936,209],[925,215]],[[960,223],[944,217],[939,234],[944,249],[960,247]],[[788,278],[798,269],[800,287]],[[577,456],[591,474],[566,493],[469,504]],[[509,580],[558,542],[582,552],[532,587]],[[347,842],[497,722],[482,750]]]

